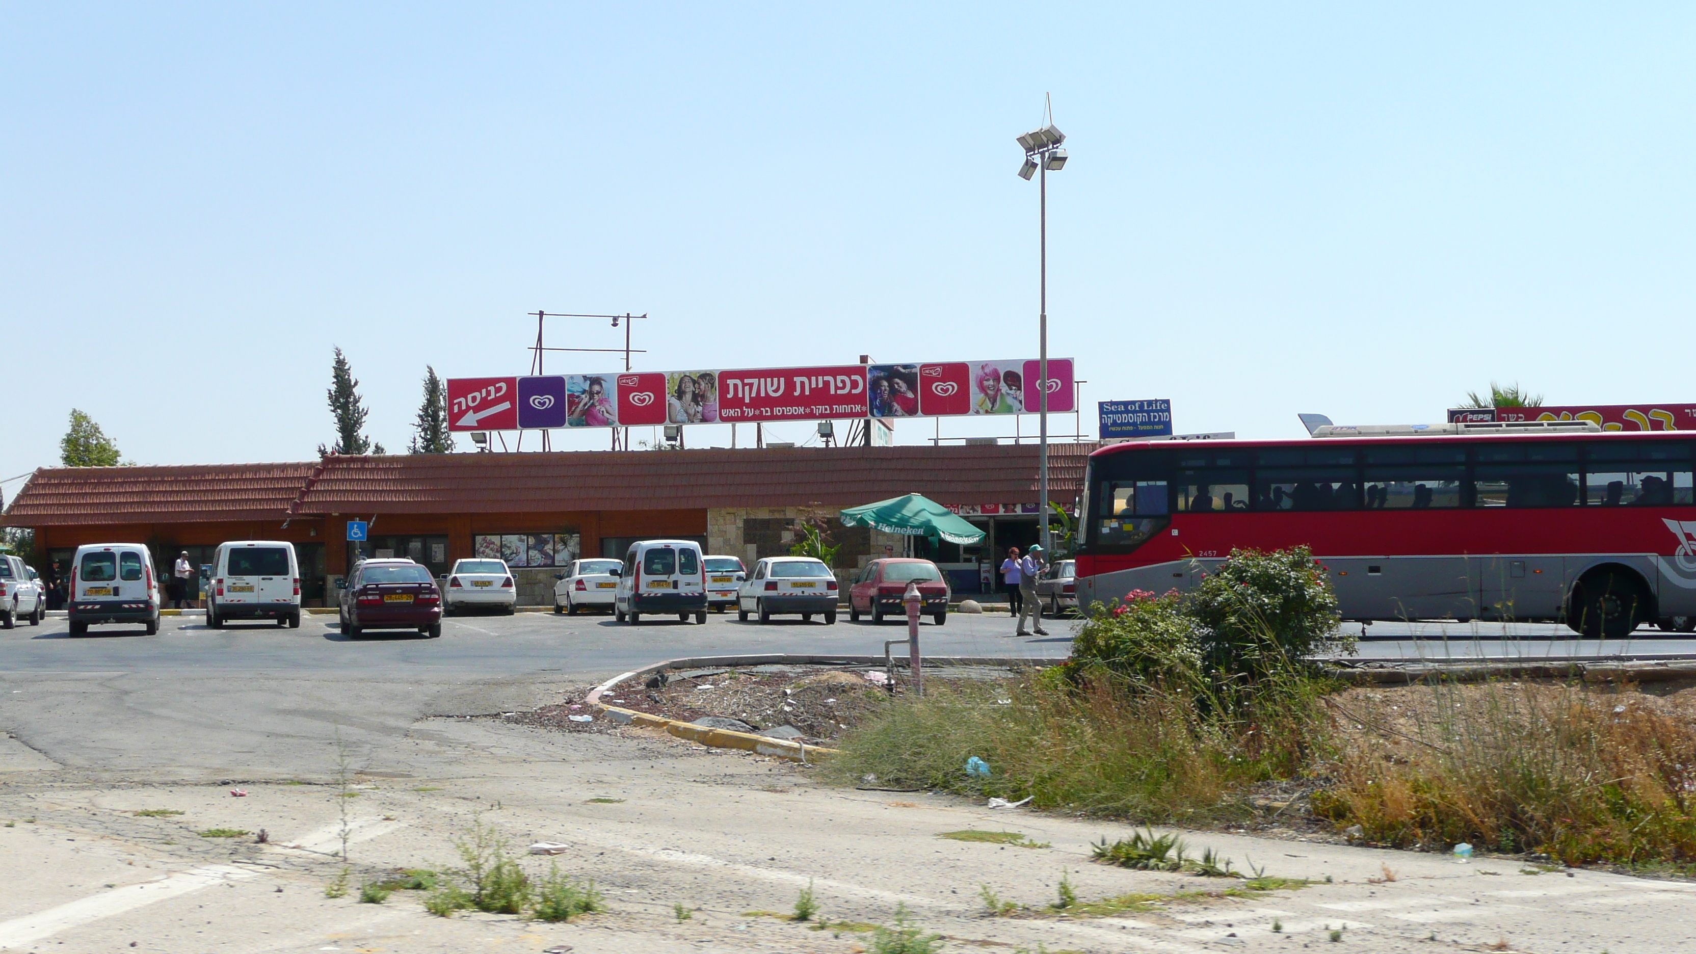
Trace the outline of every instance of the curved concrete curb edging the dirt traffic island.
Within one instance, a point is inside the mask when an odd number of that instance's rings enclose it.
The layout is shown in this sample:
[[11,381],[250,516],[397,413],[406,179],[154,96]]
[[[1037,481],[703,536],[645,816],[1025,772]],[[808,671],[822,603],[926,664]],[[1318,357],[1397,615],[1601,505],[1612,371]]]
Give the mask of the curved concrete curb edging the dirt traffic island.
[[[1058,665],[1065,662],[1060,659],[1006,659],[1006,657],[970,657],[970,655],[948,655],[948,657],[928,657],[926,665]],[[807,745],[806,742],[789,742],[784,738],[767,738],[765,735],[755,735],[751,732],[731,732],[728,728],[707,728],[704,725],[695,725],[690,721],[678,721],[675,718],[663,718],[648,713],[639,713],[636,710],[626,710],[619,706],[609,706],[600,701],[600,696],[611,691],[619,682],[629,679],[643,679],[655,672],[663,672],[667,669],[709,669],[714,665],[722,665],[726,669],[734,665],[884,665],[884,657],[880,655],[790,655],[790,654],[763,654],[763,655],[699,655],[687,659],[668,659],[665,662],[655,662],[643,669],[634,669],[631,672],[622,672],[607,679],[600,686],[589,691],[583,703],[594,710],[605,715],[609,720],[619,725],[639,725],[643,728],[658,728],[667,735],[675,735],[678,738],[687,738],[690,742],[699,742],[702,745],[712,745],[714,749],[739,749],[743,752],[753,752],[756,755],[775,755],[778,759],[790,759],[806,764],[809,759],[828,759],[836,755],[836,749],[824,749],[821,745]]]

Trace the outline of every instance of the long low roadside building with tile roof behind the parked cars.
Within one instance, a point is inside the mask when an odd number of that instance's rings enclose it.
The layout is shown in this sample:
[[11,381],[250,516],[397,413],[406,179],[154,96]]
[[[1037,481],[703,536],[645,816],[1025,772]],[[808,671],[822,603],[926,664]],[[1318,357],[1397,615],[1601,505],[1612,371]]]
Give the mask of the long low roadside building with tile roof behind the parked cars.
[[[1050,445],[1050,499],[1070,506],[1096,445]],[[63,467],[31,475],[3,525],[36,531],[49,581],[81,543],[146,543],[156,565],[181,550],[210,562],[226,540],[288,540],[302,598],[332,604],[361,555],[410,557],[443,575],[465,557],[500,557],[519,601],[551,603],[577,557],[622,557],[634,540],[697,540],[709,553],[789,552],[811,523],[840,547],[846,575],[907,542],[845,528],[843,508],[924,494],[989,531],[982,547],[914,542],[957,592],[979,592],[992,553],[1038,536],[1035,445],[326,457],[307,463]],[[366,521],[363,543],[348,521]]]

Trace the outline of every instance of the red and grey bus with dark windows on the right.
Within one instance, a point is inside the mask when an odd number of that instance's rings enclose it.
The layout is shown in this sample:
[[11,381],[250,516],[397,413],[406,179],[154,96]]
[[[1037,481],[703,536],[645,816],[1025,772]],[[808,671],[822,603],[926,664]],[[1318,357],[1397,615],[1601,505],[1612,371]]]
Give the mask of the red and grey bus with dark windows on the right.
[[[1435,428],[1433,428],[1435,429]],[[1089,458],[1079,606],[1306,545],[1345,620],[1696,628],[1689,433],[1133,441]]]

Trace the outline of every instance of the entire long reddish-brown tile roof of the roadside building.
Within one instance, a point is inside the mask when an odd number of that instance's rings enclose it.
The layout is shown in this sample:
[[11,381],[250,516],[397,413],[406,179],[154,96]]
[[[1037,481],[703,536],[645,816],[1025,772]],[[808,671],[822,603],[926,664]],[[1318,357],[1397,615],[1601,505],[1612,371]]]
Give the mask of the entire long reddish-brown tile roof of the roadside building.
[[[1050,446],[1070,502],[1096,445]],[[287,519],[331,513],[641,511],[1035,502],[1035,445],[329,457],[322,463],[37,470],[14,526]]]

